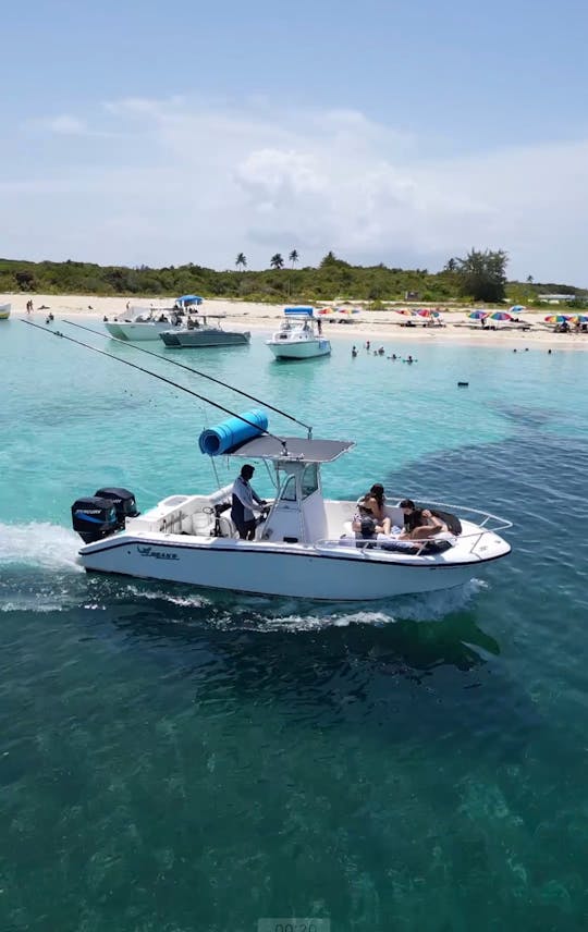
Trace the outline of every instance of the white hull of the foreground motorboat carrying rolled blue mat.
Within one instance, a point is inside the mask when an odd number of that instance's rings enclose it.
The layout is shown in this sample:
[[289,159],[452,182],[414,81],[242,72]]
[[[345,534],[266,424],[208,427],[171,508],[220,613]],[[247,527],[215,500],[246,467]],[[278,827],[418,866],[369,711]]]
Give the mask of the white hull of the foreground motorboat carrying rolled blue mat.
[[[510,553],[511,548],[503,543],[494,560]],[[88,571],[212,589],[364,602],[462,586],[490,561],[411,563],[356,548],[319,551],[293,544],[272,549],[268,543],[232,538],[186,540],[182,535],[123,531],[82,548],[79,562]]]

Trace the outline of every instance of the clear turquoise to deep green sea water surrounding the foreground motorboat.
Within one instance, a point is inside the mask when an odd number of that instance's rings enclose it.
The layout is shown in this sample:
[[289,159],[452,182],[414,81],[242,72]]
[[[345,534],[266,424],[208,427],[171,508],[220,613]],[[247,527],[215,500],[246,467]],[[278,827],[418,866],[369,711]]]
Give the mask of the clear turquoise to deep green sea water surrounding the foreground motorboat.
[[0,928],[585,929],[588,356],[154,347],[355,440],[328,494],[380,479],[515,523],[512,557],[463,590],[317,608],[81,573],[73,500],[212,488],[197,437],[218,417],[0,327]]

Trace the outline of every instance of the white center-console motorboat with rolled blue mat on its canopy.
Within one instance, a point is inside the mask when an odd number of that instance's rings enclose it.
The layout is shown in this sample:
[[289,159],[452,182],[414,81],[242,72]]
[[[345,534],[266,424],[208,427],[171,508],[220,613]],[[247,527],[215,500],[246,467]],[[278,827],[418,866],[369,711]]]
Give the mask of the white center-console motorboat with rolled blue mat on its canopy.
[[[199,440],[206,454],[261,459],[273,469],[275,496],[268,502],[255,540],[238,538],[230,516],[232,486],[209,494],[171,494],[144,514],[137,512],[132,492],[101,489],[72,505],[73,527],[86,541],[79,550],[82,566],[215,589],[339,602],[461,586],[511,552],[498,534],[511,527],[509,522],[448,505],[437,506],[453,519],[452,532],[443,537],[404,542],[384,535],[358,539],[352,530],[356,501],[324,499],[321,481],[321,467],[354,443],[280,438],[264,425],[264,412],[247,412],[204,431]],[[458,512],[469,517],[461,516],[456,528]],[[403,526],[397,503],[388,506],[387,513],[393,525]]]

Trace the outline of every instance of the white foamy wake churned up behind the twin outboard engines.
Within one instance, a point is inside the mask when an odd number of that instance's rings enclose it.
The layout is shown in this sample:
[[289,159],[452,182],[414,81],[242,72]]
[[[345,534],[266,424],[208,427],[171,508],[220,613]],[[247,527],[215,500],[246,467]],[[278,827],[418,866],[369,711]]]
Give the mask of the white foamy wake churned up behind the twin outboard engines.
[[78,536],[59,525],[0,523],[0,566],[28,565],[83,573],[76,563],[79,547]]

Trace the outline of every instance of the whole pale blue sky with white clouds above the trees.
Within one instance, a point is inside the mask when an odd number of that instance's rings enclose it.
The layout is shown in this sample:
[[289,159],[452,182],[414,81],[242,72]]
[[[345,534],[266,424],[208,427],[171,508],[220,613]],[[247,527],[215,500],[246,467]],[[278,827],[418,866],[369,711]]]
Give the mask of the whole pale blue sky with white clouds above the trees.
[[587,285],[587,8],[478,5],[12,5],[0,255],[436,269],[477,246]]

